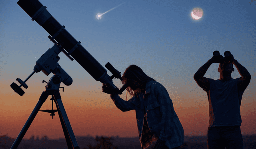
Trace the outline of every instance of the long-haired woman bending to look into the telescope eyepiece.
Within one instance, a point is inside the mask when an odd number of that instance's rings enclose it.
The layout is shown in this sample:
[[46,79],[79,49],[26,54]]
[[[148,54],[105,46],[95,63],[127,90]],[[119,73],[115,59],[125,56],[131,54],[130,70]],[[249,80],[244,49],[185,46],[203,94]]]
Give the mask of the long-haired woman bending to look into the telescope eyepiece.
[[156,140],[154,149],[179,149],[184,140],[184,130],[166,88],[136,65],[130,65],[122,78],[122,84],[129,83],[126,90],[132,98],[128,101],[127,95],[126,100],[123,100],[105,84],[102,90],[110,94],[122,112],[135,110],[142,149]]

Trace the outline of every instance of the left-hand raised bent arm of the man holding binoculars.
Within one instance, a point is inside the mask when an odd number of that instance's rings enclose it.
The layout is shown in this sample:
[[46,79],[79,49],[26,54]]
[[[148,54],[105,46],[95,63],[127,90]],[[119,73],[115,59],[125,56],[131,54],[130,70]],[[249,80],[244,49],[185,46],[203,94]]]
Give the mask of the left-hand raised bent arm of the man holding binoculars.
[[210,89],[210,82],[206,77],[204,77],[204,74],[206,73],[210,65],[212,65],[212,63],[215,63],[215,61],[216,59],[212,57],[208,62],[206,62],[202,67],[200,67],[200,69],[198,69],[198,71],[194,74],[194,80],[196,81],[198,86],[200,86],[203,89],[206,89],[206,90]]

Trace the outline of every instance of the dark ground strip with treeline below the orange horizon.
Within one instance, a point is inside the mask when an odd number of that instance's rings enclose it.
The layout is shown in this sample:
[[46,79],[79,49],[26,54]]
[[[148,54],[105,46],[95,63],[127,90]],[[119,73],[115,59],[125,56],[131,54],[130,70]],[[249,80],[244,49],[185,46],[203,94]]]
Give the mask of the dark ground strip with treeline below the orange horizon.
[[[256,135],[244,135],[244,149],[256,149]],[[10,149],[15,138],[0,136],[0,149]],[[92,137],[77,136],[80,149],[141,149],[138,137]],[[89,145],[90,144],[90,145]],[[91,146],[89,148],[89,146]],[[153,145],[152,145],[153,146]],[[47,136],[23,139],[18,149],[68,149],[65,139],[48,139]],[[206,136],[185,136],[180,149],[207,149]]]

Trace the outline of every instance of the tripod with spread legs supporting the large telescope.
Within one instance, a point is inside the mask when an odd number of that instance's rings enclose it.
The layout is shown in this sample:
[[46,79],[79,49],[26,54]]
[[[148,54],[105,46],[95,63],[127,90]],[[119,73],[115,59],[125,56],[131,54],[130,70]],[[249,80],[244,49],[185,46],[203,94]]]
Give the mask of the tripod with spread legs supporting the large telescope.
[[80,147],[77,144],[70,122],[68,120],[68,116],[62,104],[59,90],[46,90],[42,92],[38,103],[36,104],[34,110],[30,114],[26,124],[23,126],[18,137],[15,139],[14,143],[12,144],[11,149],[17,149],[18,145],[20,144],[20,141],[24,137],[26,131],[28,130],[31,123],[33,122],[34,118],[36,117],[36,114],[38,113],[38,111],[40,111],[40,108],[42,107],[43,103],[45,102],[45,100],[48,98],[49,95],[52,95],[51,100],[54,100],[57,110],[52,109],[52,110],[42,110],[42,111],[52,113],[51,114],[52,118],[55,115],[54,112],[58,112],[58,115],[60,117],[60,123],[62,125],[62,129],[68,145],[68,149],[80,149]]

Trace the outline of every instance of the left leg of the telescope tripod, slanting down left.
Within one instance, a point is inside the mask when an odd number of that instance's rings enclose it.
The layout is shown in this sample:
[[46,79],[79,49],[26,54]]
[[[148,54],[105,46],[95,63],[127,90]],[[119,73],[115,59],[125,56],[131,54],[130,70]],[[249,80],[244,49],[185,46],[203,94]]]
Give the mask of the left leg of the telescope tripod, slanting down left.
[[45,102],[45,100],[47,99],[48,96],[49,96],[49,94],[47,92],[42,92],[42,94],[41,94],[41,96],[39,98],[39,101],[37,102],[34,110],[30,114],[27,122],[25,123],[25,125],[21,129],[18,137],[15,139],[14,143],[12,144],[11,149],[17,149],[18,145],[20,144],[20,141],[22,140],[22,138],[26,134],[29,126],[33,122],[34,118],[36,117],[36,114],[38,113],[38,111],[40,110],[41,106],[43,105],[43,103]]

